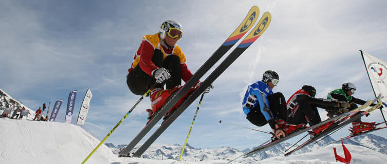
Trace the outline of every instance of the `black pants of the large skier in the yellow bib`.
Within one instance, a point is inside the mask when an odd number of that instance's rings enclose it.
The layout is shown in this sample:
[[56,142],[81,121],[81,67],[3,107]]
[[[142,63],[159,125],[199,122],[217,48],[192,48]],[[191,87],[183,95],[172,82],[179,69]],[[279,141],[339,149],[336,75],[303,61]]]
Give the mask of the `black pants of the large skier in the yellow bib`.
[[[155,88],[162,88],[165,84],[167,89],[172,89],[177,85],[181,85],[181,66],[180,58],[176,55],[169,55],[163,59],[163,54],[160,50],[154,51],[152,62],[159,68],[163,67],[169,71],[171,78],[162,84],[157,84]],[[137,65],[131,73],[126,76],[126,84],[132,93],[143,95],[148,89],[153,89],[151,86],[156,84],[156,80],[149,74],[142,71]]]

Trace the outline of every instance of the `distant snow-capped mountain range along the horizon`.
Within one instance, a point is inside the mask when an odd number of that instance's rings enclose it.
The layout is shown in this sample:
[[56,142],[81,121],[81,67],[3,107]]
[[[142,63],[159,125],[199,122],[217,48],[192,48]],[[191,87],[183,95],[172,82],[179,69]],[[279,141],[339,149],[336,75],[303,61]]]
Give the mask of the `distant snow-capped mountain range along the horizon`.
[[[293,154],[304,154],[307,152],[319,150],[325,147],[326,144],[335,141],[331,137],[326,137],[317,144],[310,144],[299,151],[294,152]],[[338,142],[339,143],[339,142]],[[126,147],[126,145],[114,146],[114,144],[106,143],[114,154],[119,154],[119,149]],[[382,154],[387,154],[387,139],[373,135],[373,134],[364,134],[351,139],[344,140],[344,145],[355,145],[361,146],[364,148],[375,150]],[[140,145],[139,145],[140,146]],[[134,148],[136,151],[139,146]],[[252,157],[256,160],[263,160],[266,158],[279,156],[285,154],[285,150],[289,148],[291,144],[285,142],[277,146],[267,149],[266,151],[257,153]],[[179,144],[175,145],[165,145],[165,144],[153,144],[148,150],[144,152],[142,158],[149,159],[178,159],[181,153],[182,146]],[[236,156],[242,155],[250,151],[251,149],[245,149],[240,151],[235,148],[222,147],[217,149],[200,149],[194,148],[191,145],[187,144],[185,151],[183,152],[183,158],[189,161],[202,161],[202,160],[220,160],[220,159],[233,159]],[[134,152],[133,151],[133,152]]]

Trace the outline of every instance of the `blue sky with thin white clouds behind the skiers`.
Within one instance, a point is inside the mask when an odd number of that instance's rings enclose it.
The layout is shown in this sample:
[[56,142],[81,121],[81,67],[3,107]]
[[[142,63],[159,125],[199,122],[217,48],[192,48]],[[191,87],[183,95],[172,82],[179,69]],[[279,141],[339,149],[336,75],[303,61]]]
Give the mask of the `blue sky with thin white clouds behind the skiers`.
[[[214,81],[215,88],[205,95],[197,115],[190,145],[243,150],[268,140],[267,134],[218,123],[270,131],[269,126],[251,125],[241,108],[246,86],[260,80],[266,70],[279,73],[274,92],[282,92],[286,99],[305,84],[315,86],[317,97],[326,97],[345,81],[357,86],[355,97],[374,97],[358,50],[387,61],[384,1],[6,0],[0,2],[0,88],[31,109],[64,99],[57,117],[61,122],[69,92],[78,90],[78,115],[90,88],[93,99],[83,127],[102,139],[140,98],[127,88],[125,75],[143,35],[158,32],[164,20],[180,22],[184,34],[177,44],[195,72],[253,5],[260,8],[260,15],[272,14],[271,25]],[[197,104],[194,101],[156,142],[184,144]],[[106,142],[128,144],[144,126],[148,108],[146,97]],[[325,114],[320,110],[323,119]],[[381,121],[380,111],[363,120]],[[348,135],[344,129],[333,137]],[[385,130],[374,134],[387,136]]]

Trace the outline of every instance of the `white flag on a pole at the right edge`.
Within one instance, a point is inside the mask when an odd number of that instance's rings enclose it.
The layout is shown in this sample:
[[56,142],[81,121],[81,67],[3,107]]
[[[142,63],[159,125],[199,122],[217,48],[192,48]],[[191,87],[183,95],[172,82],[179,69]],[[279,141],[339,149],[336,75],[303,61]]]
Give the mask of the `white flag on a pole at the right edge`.
[[387,64],[365,52],[363,58],[374,92],[382,95],[383,106],[387,107]]

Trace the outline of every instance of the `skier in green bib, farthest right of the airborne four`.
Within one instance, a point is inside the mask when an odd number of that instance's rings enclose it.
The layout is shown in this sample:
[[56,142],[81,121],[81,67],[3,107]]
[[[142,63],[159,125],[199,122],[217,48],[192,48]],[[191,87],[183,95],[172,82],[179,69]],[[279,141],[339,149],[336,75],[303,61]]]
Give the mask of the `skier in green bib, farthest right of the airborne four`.
[[[354,84],[345,82],[341,85],[341,89],[339,88],[329,92],[327,95],[327,99],[347,101],[348,103],[351,103],[351,107],[348,110],[340,110],[337,108],[327,109],[327,112],[328,112],[327,116],[334,117],[335,115],[340,115],[341,113],[345,113],[353,109],[356,109],[358,107],[356,104],[364,105],[366,101],[352,96],[355,93],[355,91],[356,91],[356,87]],[[375,106],[375,104],[371,104],[370,106]],[[380,108],[383,108],[383,106]],[[353,128],[350,131],[353,134],[361,133],[363,131],[368,131],[376,128],[375,122],[362,122],[361,118],[352,122],[352,126]]]

